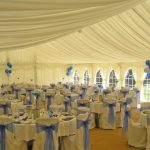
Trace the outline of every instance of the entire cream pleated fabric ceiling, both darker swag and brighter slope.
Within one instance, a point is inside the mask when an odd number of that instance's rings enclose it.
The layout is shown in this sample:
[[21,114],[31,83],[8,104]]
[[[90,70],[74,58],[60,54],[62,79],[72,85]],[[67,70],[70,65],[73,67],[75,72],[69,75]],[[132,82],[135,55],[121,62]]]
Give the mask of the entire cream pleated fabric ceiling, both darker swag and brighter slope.
[[2,1],[0,51],[28,52],[43,63],[144,61],[150,56],[150,1]]

